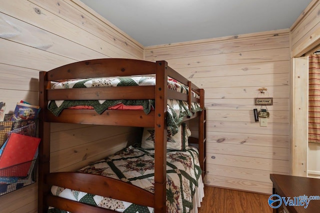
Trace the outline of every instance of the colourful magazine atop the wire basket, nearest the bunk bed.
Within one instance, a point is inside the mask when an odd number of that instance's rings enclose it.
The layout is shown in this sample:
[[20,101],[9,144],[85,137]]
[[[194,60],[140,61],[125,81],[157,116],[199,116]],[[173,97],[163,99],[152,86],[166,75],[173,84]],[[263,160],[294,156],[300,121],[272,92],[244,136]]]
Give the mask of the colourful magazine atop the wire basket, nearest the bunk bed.
[[11,120],[36,119],[40,107],[28,103],[17,102]]

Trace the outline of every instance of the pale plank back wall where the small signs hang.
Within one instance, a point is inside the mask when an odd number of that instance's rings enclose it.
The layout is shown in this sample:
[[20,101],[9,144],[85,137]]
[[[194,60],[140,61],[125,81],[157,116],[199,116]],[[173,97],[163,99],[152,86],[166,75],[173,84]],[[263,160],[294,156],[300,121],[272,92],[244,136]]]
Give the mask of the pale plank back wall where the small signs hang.
[[[145,47],[205,89],[206,184],[271,194],[269,173],[289,173],[289,52],[289,30]],[[273,97],[267,127],[253,117],[260,87]]]

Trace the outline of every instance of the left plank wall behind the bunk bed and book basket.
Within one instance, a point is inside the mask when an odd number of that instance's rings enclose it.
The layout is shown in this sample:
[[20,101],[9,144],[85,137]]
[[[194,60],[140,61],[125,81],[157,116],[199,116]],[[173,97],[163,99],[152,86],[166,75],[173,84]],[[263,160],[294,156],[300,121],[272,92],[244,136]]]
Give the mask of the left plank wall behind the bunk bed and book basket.
[[[143,59],[143,46],[79,0],[0,0],[0,101],[38,103],[38,72],[91,58]],[[129,141],[131,127],[51,125],[51,170],[74,170]],[[75,141],[80,141],[78,145]],[[119,142],[117,142],[119,141]],[[66,160],[64,160],[66,159]],[[0,212],[37,212],[37,184],[0,196]]]

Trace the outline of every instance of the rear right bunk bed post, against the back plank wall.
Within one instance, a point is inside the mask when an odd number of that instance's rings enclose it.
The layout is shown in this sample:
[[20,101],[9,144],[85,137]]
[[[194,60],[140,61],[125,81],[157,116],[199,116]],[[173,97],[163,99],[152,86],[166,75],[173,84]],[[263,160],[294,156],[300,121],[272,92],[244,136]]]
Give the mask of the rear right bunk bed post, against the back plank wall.
[[199,89],[200,92],[200,107],[202,108],[202,111],[200,112],[200,116],[198,117],[198,144],[199,144],[199,163],[200,167],[202,169],[202,178],[204,178],[205,175],[205,124],[206,124],[206,111],[204,108],[204,89]]

